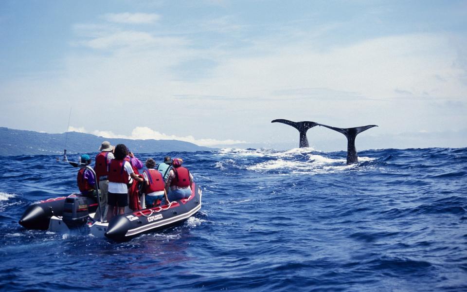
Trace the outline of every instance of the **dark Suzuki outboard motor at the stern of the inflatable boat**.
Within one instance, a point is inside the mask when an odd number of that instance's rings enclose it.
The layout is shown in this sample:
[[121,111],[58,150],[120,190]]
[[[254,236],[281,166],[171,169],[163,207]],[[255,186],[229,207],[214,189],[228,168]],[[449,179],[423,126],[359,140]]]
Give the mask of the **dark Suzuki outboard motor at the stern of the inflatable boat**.
[[76,229],[88,221],[88,201],[84,197],[69,197],[63,207],[63,222],[69,229]]

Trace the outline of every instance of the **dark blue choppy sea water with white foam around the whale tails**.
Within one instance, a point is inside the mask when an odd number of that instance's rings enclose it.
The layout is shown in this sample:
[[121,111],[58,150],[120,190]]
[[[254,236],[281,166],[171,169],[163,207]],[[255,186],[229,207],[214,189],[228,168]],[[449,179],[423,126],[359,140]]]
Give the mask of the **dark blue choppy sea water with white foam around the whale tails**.
[[25,230],[27,206],[76,192],[77,170],[0,157],[0,290],[467,291],[467,148],[367,150],[349,166],[311,148],[169,154],[202,209],[125,243]]

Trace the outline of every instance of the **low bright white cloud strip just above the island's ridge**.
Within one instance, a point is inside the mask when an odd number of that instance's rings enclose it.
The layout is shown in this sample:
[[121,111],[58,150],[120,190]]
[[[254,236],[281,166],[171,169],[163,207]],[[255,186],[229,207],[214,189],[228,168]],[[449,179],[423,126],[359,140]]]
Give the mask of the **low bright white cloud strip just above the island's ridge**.
[[131,132],[131,135],[120,135],[115,134],[112,131],[102,131],[102,130],[93,130],[87,131],[83,127],[72,127],[70,126],[69,131],[79,132],[79,133],[88,133],[104,138],[120,138],[120,139],[131,139],[131,140],[179,140],[190,142],[199,146],[216,146],[216,145],[234,145],[240,143],[247,143],[246,141],[237,141],[237,140],[216,140],[216,139],[196,139],[193,136],[179,137],[176,135],[167,135],[160,133],[148,127],[136,127]]

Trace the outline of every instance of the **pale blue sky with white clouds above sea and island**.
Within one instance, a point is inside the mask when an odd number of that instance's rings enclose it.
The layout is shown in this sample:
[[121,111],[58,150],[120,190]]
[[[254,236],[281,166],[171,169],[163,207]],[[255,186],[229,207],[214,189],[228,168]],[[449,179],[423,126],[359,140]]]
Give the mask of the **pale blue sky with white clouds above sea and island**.
[[0,127],[297,147],[280,118],[467,146],[466,0],[0,0],[0,44]]

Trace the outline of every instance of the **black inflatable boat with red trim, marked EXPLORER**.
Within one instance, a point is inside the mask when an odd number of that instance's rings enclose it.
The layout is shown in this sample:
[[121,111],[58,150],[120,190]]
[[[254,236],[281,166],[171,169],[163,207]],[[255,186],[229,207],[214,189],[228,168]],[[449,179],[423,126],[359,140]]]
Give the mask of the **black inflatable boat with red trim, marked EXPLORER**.
[[[89,165],[69,163],[74,167],[84,167],[94,172]],[[97,184],[95,189],[99,189]],[[94,218],[99,208],[99,198],[72,194],[29,206],[19,220],[19,224],[27,229],[88,233],[95,237],[126,241],[139,234],[161,231],[181,224],[201,209],[201,197],[201,189],[193,183],[191,195],[186,199],[130,211],[106,222],[102,218]]]

